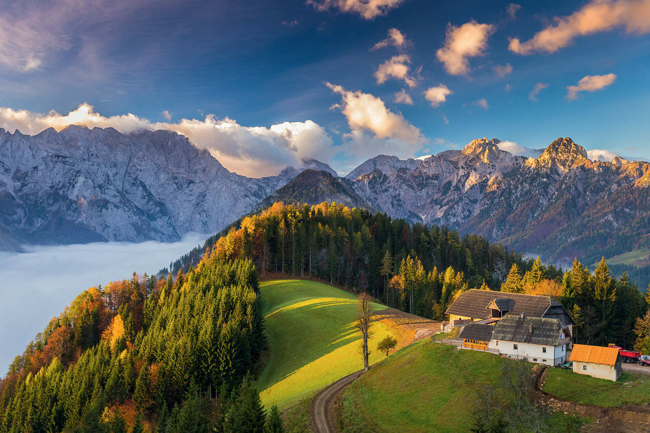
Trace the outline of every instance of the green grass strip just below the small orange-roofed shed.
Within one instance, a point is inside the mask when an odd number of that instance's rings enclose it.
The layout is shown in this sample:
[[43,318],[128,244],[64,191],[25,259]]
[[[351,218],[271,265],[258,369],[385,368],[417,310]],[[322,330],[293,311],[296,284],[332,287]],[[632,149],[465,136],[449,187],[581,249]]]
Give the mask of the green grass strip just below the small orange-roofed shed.
[[544,391],[560,399],[606,408],[650,403],[650,376],[623,371],[617,382],[549,369]]

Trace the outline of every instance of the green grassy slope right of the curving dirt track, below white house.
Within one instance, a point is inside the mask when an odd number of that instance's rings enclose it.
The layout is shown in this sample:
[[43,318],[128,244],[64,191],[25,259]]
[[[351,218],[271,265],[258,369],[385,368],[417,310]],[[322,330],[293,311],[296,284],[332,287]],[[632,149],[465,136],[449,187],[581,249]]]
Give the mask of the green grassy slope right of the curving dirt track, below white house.
[[[341,395],[342,432],[465,432],[483,384],[499,380],[510,360],[421,341],[391,355]],[[343,420],[343,422],[341,422]],[[554,428],[568,417],[553,415]]]

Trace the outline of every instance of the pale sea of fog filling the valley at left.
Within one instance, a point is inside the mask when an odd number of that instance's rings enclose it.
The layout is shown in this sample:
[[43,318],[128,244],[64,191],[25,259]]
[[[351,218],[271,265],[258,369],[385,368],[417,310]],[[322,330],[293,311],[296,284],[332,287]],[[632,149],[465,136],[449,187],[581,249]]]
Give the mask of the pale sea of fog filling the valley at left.
[[26,253],[0,252],[0,377],[37,332],[82,291],[162,267],[207,239],[187,234],[174,243],[94,242],[28,246]]

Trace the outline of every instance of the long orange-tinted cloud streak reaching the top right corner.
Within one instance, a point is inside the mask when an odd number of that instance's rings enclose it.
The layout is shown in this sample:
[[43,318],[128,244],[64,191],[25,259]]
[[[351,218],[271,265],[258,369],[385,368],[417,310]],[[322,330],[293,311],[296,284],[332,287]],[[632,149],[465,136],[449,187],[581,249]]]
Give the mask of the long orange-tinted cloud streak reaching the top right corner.
[[577,36],[623,27],[630,34],[650,32],[650,1],[591,0],[587,5],[565,17],[556,17],[554,24],[521,42],[510,38],[509,49],[520,55],[555,53],[573,42]]

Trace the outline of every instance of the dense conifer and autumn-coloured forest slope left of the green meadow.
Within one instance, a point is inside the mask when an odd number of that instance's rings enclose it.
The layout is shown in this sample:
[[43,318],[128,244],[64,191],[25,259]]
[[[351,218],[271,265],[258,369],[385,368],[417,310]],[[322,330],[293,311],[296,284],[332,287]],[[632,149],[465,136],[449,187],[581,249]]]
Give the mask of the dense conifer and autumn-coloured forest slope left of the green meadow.
[[0,384],[0,431],[262,428],[246,375],[263,343],[247,260],[211,254],[175,282],[134,274],[91,288],[14,360]]

